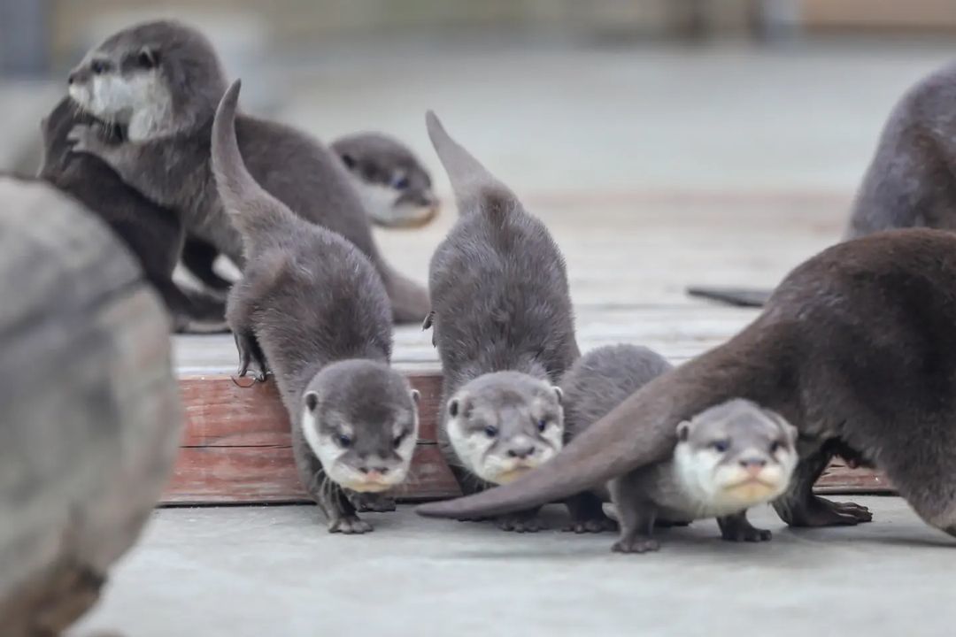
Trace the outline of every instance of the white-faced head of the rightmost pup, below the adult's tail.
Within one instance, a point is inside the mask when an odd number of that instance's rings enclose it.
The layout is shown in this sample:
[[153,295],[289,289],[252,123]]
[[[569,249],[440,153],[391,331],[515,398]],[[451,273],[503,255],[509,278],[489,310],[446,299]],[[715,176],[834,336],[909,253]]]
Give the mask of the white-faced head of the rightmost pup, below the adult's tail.
[[776,499],[796,467],[796,428],[749,400],[711,407],[677,427],[676,473],[708,509],[742,511]]

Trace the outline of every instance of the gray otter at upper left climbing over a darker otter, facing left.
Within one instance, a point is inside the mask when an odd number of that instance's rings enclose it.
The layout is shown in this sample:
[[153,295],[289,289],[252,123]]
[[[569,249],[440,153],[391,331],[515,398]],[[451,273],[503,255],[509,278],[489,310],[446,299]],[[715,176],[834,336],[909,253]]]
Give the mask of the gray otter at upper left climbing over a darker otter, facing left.
[[[69,82],[81,109],[126,132],[117,142],[97,127],[77,124],[70,133],[74,150],[102,159],[148,199],[180,211],[190,233],[242,267],[243,241],[228,221],[209,167],[209,132],[226,79],[206,37],[175,21],[137,25],[88,53]],[[421,321],[427,293],[380,257],[368,214],[341,162],[288,126],[248,116],[238,117],[236,125],[253,178],[295,214],[355,244],[378,270],[396,320]]]

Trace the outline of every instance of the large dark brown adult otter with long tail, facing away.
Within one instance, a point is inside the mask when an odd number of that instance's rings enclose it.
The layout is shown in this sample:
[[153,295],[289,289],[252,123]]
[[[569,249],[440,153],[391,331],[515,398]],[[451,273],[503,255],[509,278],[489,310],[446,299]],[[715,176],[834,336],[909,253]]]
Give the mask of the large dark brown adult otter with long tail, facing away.
[[796,267],[727,344],[657,377],[540,468],[422,515],[501,515],[566,498],[673,454],[677,424],[731,398],[799,432],[794,526],[857,524],[864,507],[814,495],[835,449],[887,475],[917,514],[956,536],[956,235],[893,230]]

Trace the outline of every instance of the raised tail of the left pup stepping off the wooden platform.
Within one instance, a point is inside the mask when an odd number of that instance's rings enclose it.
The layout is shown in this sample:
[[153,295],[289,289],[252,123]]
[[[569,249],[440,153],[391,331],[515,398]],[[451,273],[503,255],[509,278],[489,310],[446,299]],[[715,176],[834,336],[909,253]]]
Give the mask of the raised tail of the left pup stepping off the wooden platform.
[[242,80],[236,80],[219,102],[212,122],[212,172],[229,218],[250,245],[277,225],[294,223],[293,211],[275,199],[252,178],[239,152],[236,138],[236,104]]

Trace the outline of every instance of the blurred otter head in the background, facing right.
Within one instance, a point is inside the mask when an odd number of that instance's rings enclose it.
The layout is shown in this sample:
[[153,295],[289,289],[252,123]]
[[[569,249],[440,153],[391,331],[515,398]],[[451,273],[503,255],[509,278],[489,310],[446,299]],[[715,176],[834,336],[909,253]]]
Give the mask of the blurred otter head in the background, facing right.
[[337,139],[332,149],[352,176],[373,223],[420,227],[438,214],[431,177],[397,139],[359,133]]

